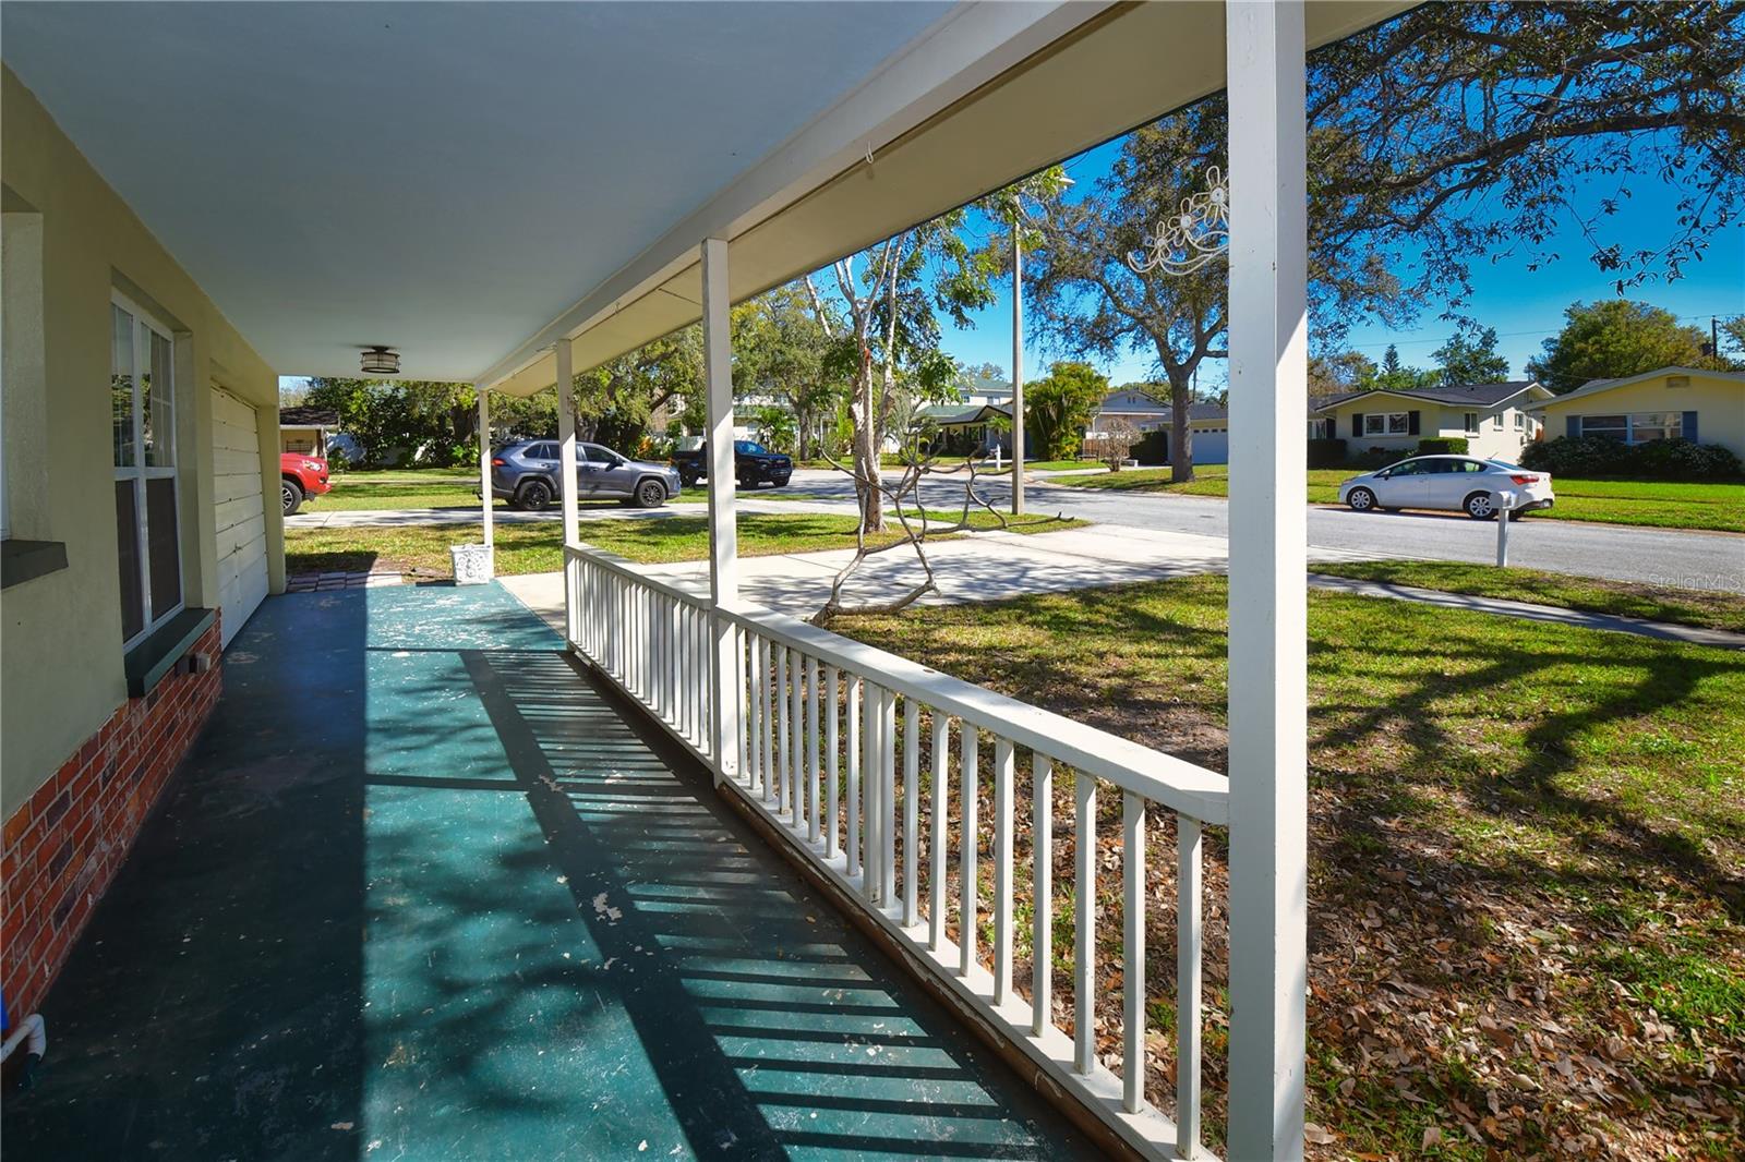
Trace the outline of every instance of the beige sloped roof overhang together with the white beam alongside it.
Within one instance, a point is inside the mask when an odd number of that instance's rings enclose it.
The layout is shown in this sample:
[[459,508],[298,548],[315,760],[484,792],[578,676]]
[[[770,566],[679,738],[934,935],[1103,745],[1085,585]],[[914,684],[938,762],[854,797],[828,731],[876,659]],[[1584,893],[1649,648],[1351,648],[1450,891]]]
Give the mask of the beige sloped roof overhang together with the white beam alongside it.
[[[1310,0],[1309,45],[1408,7]],[[1007,9],[1007,23],[996,24],[988,9]],[[574,365],[583,370],[695,323],[701,312],[696,246],[705,236],[731,241],[729,288],[740,302],[1216,92],[1225,72],[1223,28],[1220,0],[1052,10],[974,5],[899,63],[909,73],[888,68],[869,80],[832,110],[839,124],[808,127],[480,382],[530,394],[553,382],[550,345],[560,335],[576,338]],[[955,33],[961,44],[951,40]],[[900,84],[911,99],[874,122],[893,103],[888,84]],[[815,133],[824,140],[810,140]]]

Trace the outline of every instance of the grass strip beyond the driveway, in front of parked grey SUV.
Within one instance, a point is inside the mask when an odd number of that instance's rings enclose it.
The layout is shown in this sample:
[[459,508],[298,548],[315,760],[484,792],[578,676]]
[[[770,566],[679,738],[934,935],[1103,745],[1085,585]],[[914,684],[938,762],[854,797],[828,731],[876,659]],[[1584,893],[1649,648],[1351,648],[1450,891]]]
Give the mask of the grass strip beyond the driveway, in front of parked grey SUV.
[[[932,520],[951,523],[956,513],[932,513]],[[1012,532],[1054,532],[1075,529],[1082,520],[1047,516],[1007,518]],[[975,529],[996,529],[988,513],[972,513]],[[703,560],[708,557],[708,520],[703,516],[658,516],[649,520],[583,520],[581,539],[588,544],[642,564]],[[497,574],[551,572],[564,567],[562,527],[555,520],[497,525]],[[359,525],[339,529],[288,529],[284,532],[284,569],[300,572],[363,572],[382,569],[447,578],[448,546],[475,541],[471,525]],[[747,513],[738,520],[742,557],[771,553],[813,553],[853,548],[855,518],[829,513]],[[895,523],[872,543],[899,539]]]

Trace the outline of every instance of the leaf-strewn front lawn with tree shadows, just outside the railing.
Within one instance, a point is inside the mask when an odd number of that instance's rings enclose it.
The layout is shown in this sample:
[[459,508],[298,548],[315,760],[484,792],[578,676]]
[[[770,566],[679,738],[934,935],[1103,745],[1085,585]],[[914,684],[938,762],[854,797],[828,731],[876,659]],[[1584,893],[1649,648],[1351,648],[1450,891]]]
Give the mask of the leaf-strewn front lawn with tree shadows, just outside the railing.
[[[1225,600],[1223,578],[1206,576],[834,628],[1222,769]],[[1570,1134],[1591,1134],[1595,1153],[1735,1157],[1745,1117],[1738,654],[1310,591],[1309,689],[1309,1120],[1331,1132],[1317,1157],[1557,1157]],[[1024,757],[1019,771],[1023,947],[1033,914]],[[1071,773],[1057,769],[1054,787],[1054,818],[1071,820]],[[991,780],[979,794],[988,829]],[[1099,1024],[1112,1019],[1099,1042],[1110,1042],[1122,1005],[1120,796],[1099,799],[1108,871],[1096,1003]],[[1071,832],[1056,827],[1054,1001],[1066,1028]],[[1174,844],[1166,815],[1152,829],[1146,1008],[1167,1031]],[[1208,1138],[1220,1143],[1222,830],[1208,853]],[[1150,1054],[1153,1099],[1173,1089],[1171,1045]],[[1427,1131],[1440,1145],[1424,1146]]]

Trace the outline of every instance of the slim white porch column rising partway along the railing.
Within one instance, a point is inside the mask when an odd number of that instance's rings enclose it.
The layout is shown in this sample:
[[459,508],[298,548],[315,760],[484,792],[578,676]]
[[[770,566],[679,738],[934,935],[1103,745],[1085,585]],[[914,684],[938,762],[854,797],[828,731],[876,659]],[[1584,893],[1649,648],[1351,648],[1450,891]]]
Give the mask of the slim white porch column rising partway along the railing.
[[[728,243],[703,241],[703,379],[708,389],[708,598],[714,609],[740,604],[740,534],[733,473],[733,332],[728,298]],[[740,696],[733,623],[712,618],[710,691],[714,698],[715,782],[738,776]]]

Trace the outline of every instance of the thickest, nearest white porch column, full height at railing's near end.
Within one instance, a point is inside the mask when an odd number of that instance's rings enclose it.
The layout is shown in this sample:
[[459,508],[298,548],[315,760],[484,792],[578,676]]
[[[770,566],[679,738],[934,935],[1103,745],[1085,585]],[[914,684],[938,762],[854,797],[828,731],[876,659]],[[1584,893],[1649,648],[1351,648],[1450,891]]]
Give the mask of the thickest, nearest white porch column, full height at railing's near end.
[[1304,1153],[1307,213],[1302,0],[1225,5],[1230,94],[1230,1146]]

